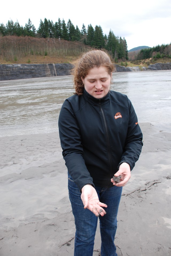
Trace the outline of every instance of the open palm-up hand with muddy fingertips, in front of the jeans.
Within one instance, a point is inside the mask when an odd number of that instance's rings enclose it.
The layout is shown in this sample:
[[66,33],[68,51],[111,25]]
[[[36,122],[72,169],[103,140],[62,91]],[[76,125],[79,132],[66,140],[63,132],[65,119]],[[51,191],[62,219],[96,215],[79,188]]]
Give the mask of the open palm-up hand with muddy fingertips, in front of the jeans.
[[99,201],[98,194],[95,188],[90,184],[82,187],[81,200],[83,201],[84,209],[89,209],[97,217],[99,215],[104,216],[104,214],[106,214],[105,210],[102,207],[107,207],[107,205]]

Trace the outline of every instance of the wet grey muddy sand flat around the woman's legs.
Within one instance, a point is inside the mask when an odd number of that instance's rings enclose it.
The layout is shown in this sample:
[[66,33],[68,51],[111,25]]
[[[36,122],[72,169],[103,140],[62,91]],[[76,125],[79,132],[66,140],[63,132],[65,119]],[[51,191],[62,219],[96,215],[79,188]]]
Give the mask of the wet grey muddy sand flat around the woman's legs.
[[[171,255],[171,125],[140,124],[143,150],[123,188],[118,256]],[[0,138],[0,255],[73,255],[75,225],[58,133]],[[94,256],[100,254],[99,226]]]

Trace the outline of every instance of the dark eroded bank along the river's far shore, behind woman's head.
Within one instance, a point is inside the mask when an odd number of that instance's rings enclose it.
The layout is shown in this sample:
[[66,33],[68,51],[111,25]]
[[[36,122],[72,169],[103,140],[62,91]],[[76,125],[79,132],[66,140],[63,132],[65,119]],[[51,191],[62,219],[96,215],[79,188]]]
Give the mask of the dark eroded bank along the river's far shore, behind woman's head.
[[[1,64],[0,81],[15,80],[37,77],[53,77],[69,75],[72,64]],[[171,62],[156,63],[148,67],[124,67],[116,65],[116,72],[145,71],[145,70],[168,70],[171,69]]]

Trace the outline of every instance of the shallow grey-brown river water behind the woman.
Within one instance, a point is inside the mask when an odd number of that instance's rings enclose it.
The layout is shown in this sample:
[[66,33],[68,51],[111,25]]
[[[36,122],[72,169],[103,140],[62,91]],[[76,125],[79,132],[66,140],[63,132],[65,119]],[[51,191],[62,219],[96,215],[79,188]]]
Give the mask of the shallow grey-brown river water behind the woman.
[[[171,70],[114,73],[111,89],[129,97],[139,123],[171,123]],[[57,131],[73,92],[72,76],[0,81],[0,137]]]

